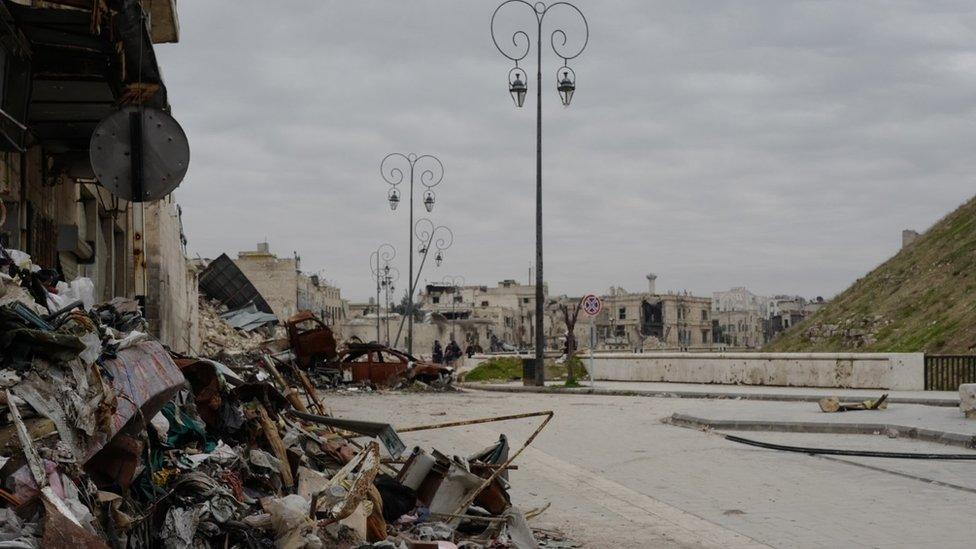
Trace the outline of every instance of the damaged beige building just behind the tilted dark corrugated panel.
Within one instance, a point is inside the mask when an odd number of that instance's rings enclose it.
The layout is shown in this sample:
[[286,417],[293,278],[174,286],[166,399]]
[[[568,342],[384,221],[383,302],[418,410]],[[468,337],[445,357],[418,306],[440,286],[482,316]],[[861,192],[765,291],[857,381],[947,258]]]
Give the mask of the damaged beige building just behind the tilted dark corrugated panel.
[[332,326],[339,326],[346,317],[339,288],[320,275],[302,273],[298,254],[278,257],[271,253],[267,242],[259,242],[254,250],[238,252],[234,264],[254,284],[281,322],[306,310]]

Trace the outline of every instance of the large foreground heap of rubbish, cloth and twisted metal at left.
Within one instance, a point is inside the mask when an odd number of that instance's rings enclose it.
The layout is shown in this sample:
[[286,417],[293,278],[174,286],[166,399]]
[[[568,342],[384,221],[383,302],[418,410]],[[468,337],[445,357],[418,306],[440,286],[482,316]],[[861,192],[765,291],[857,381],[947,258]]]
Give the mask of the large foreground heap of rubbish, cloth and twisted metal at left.
[[[0,248],[0,547],[538,547],[504,435],[407,452],[332,417],[291,351],[231,367],[174,355],[117,299],[52,310]],[[407,456],[403,459],[403,456]]]

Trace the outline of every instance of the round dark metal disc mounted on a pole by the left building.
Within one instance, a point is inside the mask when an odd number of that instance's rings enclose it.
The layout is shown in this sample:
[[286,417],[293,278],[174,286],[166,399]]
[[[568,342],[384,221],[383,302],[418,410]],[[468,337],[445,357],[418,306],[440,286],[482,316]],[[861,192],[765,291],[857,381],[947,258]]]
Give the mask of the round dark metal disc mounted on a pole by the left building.
[[190,164],[190,144],[168,113],[124,107],[98,123],[89,157],[103,187],[119,198],[145,202],[180,186]]

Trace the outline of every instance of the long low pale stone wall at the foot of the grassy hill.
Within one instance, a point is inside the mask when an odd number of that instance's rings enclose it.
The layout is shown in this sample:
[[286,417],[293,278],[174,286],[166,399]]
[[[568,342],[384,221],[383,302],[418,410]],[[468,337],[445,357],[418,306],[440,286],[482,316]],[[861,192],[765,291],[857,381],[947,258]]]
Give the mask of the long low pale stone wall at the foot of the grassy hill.
[[[589,357],[580,358],[589,368]],[[925,388],[922,353],[600,353],[593,360],[593,377],[604,381]]]

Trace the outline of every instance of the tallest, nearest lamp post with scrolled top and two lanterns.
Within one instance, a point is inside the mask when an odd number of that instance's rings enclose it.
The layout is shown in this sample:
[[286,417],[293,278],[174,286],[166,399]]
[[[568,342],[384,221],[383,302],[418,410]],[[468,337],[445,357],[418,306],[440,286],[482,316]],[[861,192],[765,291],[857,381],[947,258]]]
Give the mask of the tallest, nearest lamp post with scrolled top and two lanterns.
[[[573,4],[568,2],[555,2],[547,6],[543,2],[536,2],[531,4],[525,0],[506,0],[502,2],[495,12],[491,14],[491,39],[495,43],[495,47],[498,51],[508,59],[515,62],[515,67],[508,71],[508,91],[512,95],[512,99],[515,101],[515,106],[521,108],[525,103],[525,95],[528,92],[528,77],[526,75],[525,69],[519,66],[519,61],[526,58],[529,55],[529,50],[531,49],[531,38],[529,33],[533,30],[529,26],[528,30],[522,27],[517,27],[514,32],[512,32],[511,43],[507,40],[507,32],[504,33],[506,40],[499,43],[496,32],[496,23],[498,13],[502,8],[514,7],[522,5],[528,8],[532,15],[535,17],[534,21],[529,19],[530,22],[536,23],[536,137],[535,137],[535,383],[536,385],[545,385],[545,373],[543,372],[543,352],[545,350],[545,334],[542,333],[543,330],[543,306],[544,306],[544,296],[542,292],[542,22],[546,15],[550,13],[550,10],[555,11],[567,11],[571,14],[578,15],[580,21],[583,23],[583,38],[582,43],[578,48],[567,46],[568,35],[566,31],[562,28],[556,27],[553,29],[552,34],[549,38],[549,43],[552,45],[552,51],[563,60],[563,64],[556,70],[556,90],[559,92],[559,98],[564,106],[569,106],[573,99],[573,93],[576,91],[576,73],[573,69],[569,68],[570,59],[575,59],[586,48],[587,42],[590,39],[590,29],[586,22],[586,17],[583,16],[583,12],[579,10]],[[521,9],[521,8],[520,8]],[[499,23],[500,24],[500,23]],[[505,44],[505,47],[502,47]]]

